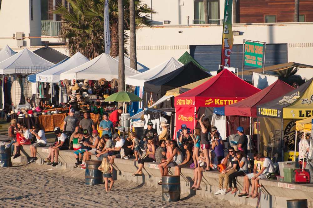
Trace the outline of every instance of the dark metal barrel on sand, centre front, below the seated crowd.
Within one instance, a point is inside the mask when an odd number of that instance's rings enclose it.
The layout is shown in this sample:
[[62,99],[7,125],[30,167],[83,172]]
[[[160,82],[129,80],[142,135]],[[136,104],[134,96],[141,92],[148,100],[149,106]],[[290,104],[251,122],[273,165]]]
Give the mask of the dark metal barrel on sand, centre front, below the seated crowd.
[[179,201],[180,200],[180,176],[168,175],[162,176],[162,200]]

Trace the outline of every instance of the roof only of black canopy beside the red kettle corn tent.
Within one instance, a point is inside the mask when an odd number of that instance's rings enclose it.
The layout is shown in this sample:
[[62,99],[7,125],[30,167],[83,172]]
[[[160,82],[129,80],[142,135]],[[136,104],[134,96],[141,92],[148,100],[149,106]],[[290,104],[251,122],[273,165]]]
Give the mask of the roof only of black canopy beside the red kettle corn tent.
[[193,62],[174,70],[167,75],[160,76],[156,79],[146,81],[144,90],[148,92],[162,93],[180,87],[192,82],[198,81],[203,77],[211,76],[206,71],[200,69]]

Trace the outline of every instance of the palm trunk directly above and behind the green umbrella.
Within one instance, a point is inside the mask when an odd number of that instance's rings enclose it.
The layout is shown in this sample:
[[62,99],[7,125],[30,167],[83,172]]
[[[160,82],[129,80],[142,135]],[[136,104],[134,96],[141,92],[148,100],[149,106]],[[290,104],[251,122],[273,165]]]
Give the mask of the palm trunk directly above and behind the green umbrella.
[[[118,45],[119,45],[119,61],[118,61],[118,91],[125,90],[125,65],[124,65],[124,9],[123,0],[118,0]],[[120,106],[120,103],[119,103]]]

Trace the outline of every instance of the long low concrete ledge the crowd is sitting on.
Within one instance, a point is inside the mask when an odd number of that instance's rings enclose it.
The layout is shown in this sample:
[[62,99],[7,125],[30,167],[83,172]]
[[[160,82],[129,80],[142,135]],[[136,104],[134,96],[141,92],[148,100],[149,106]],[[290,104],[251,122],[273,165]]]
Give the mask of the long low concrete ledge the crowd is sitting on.
[[[21,148],[22,156],[12,160],[12,163],[27,164],[29,159],[30,145],[23,145]],[[44,164],[43,160],[48,157],[48,148],[37,148],[37,164]],[[96,160],[95,155],[92,155],[92,160]],[[74,158],[73,150],[59,151],[59,165],[55,168],[70,169],[75,171],[84,171],[79,168],[73,168],[76,160]],[[153,186],[161,189],[162,187],[157,184],[161,178],[160,170],[156,163],[145,163],[142,169],[143,176],[133,177],[132,174],[138,169],[138,162],[132,159],[115,159],[114,168],[116,169],[117,179],[128,180],[139,183],[141,185]],[[175,173],[175,168],[169,170],[169,174]],[[181,170],[181,194],[200,195],[206,198],[217,197],[219,199],[228,200],[233,205],[250,205],[256,206],[256,199],[247,199],[245,197],[238,197],[239,192],[235,194],[228,193],[226,195],[214,195],[218,190],[218,171],[206,171],[203,172],[203,178],[201,181],[202,190],[193,191],[188,190],[193,184],[192,179],[194,171],[190,168],[182,168]],[[261,195],[261,207],[262,208],[285,208],[287,207],[286,200],[290,199],[308,199],[308,207],[313,208],[313,185],[312,184],[291,184],[282,183],[277,180],[260,180],[263,185]],[[237,178],[237,187],[242,190],[243,177]]]

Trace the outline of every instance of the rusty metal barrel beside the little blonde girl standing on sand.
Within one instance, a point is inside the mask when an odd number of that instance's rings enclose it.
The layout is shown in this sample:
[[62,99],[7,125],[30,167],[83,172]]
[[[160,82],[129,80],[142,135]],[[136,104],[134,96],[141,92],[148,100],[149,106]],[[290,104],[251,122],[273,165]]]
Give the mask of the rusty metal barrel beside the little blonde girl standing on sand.
[[85,172],[85,184],[97,185],[102,184],[102,172],[98,170],[102,161],[87,161]]

